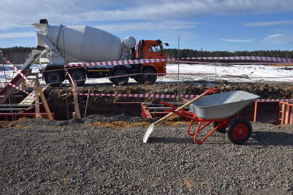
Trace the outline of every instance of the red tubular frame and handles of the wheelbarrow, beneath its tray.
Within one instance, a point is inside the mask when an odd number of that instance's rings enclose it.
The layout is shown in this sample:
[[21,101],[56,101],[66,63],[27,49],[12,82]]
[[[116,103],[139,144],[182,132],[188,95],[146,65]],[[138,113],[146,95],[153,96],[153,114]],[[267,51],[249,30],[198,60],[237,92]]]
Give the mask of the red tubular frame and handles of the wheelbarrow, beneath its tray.
[[[158,102],[153,102],[153,103],[164,104],[164,105],[166,105],[166,106],[168,106],[168,107],[171,107],[171,108],[173,108],[173,109],[175,109],[175,110],[177,109],[176,106],[173,106],[173,105],[171,105],[171,104],[168,104],[168,103],[166,103],[166,102],[164,102],[164,101],[158,101]],[[185,111],[185,110],[181,110],[180,112],[175,111],[175,110],[164,109],[164,112],[172,112],[172,113],[177,114],[177,115],[179,115],[179,116],[181,116],[181,117],[188,118],[188,119],[190,120],[190,123],[189,123],[189,126],[188,126],[188,128],[187,128],[187,134],[188,134],[189,136],[194,136],[194,137],[193,137],[193,141],[194,141],[196,144],[201,144],[201,143],[203,143],[203,142],[204,142],[204,141],[205,141],[205,140],[206,140],[211,134],[213,134],[218,128],[223,128],[223,127],[226,128],[226,126],[228,125],[228,123],[229,123],[232,119],[234,119],[234,117],[229,117],[229,118],[224,118],[224,119],[203,119],[203,118],[197,117],[197,116],[196,116],[195,114],[193,114],[193,113],[188,113],[188,112]],[[238,116],[239,116],[239,113],[236,114],[236,117],[238,117]],[[196,128],[196,130],[195,130],[194,133],[189,133],[189,130],[190,130],[190,127],[192,126],[193,121],[198,122],[198,125],[197,125],[197,128]],[[201,125],[202,125],[203,122],[208,122],[208,123],[201,127]],[[207,127],[210,123],[212,123],[212,122],[218,122],[217,126],[216,126],[213,130],[211,130],[211,131],[209,132],[209,134],[208,134],[206,137],[204,137],[202,140],[198,141],[198,140],[196,139],[198,133],[199,133],[201,130],[203,130],[204,128],[206,128],[206,127]]]

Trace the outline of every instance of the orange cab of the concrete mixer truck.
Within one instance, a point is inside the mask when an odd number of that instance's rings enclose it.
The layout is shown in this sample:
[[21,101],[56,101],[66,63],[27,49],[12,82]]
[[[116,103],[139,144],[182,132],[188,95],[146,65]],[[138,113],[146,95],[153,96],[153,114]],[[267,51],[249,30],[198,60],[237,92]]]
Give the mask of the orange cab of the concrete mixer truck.
[[[168,43],[163,43],[160,39],[140,40],[136,44],[135,59],[166,59],[166,55],[163,52],[163,44],[169,46]],[[166,74],[166,65],[167,61],[142,64],[143,75],[137,76],[134,79],[138,82],[149,81],[150,84],[153,84],[157,79],[157,73],[159,73],[159,77]]]

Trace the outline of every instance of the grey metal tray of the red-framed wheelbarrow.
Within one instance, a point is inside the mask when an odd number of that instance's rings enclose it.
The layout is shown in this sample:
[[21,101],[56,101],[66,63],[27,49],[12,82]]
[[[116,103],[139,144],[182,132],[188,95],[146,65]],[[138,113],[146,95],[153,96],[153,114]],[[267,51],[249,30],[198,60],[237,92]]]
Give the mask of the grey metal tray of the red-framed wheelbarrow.
[[202,119],[224,119],[234,116],[259,96],[232,91],[205,96],[190,104],[190,111]]

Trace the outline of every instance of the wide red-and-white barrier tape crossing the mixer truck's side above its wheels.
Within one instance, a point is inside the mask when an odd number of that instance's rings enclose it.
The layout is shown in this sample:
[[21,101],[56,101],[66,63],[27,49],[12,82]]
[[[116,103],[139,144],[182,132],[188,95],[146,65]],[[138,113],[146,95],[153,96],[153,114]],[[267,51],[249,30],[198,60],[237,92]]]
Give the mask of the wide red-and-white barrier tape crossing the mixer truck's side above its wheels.
[[166,59],[131,59],[131,60],[119,60],[119,61],[101,61],[101,62],[88,62],[88,63],[69,63],[66,67],[86,67],[86,66],[117,66],[117,65],[128,65],[128,64],[144,64],[144,63],[155,63],[164,62]]

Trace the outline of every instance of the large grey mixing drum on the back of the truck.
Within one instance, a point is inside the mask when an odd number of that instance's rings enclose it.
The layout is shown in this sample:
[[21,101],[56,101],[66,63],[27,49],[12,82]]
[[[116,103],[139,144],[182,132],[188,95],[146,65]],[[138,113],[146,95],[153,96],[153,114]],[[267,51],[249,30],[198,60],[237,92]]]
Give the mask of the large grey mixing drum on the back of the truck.
[[[40,30],[40,24],[32,25]],[[45,30],[40,33],[49,39],[59,52],[82,62],[119,60],[122,54],[120,38],[90,26],[46,25]],[[48,47],[47,42],[42,39],[38,39],[38,45]]]

